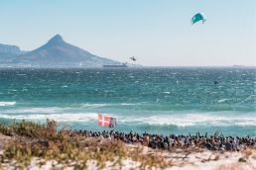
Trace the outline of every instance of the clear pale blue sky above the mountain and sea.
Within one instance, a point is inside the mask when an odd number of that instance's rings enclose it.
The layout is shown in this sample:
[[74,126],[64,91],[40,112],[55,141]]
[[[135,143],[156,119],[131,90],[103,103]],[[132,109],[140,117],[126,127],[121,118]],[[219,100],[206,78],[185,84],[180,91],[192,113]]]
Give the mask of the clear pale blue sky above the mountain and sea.
[[57,34],[145,66],[256,65],[256,0],[0,1],[0,43],[32,50]]

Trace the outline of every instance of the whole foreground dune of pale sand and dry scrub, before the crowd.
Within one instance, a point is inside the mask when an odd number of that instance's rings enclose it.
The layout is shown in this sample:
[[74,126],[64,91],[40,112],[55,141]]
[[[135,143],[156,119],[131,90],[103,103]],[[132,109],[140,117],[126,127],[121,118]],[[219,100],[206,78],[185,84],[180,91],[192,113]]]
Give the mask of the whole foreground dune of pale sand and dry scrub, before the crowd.
[[[199,145],[152,148],[103,135],[87,136],[78,130],[57,130],[47,125],[16,123],[0,126],[1,168],[50,169],[255,169],[256,147],[210,150]],[[106,136],[106,137],[105,137]],[[147,135],[145,135],[147,136]],[[197,134],[198,137],[202,137]],[[145,137],[147,138],[147,137]],[[256,139],[254,138],[253,141]]]

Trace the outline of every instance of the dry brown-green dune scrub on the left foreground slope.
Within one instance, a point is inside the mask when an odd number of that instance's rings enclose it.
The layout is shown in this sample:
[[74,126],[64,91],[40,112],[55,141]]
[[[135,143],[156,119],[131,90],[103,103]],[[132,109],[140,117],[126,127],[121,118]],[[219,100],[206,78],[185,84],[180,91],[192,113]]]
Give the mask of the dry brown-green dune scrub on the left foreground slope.
[[57,130],[57,126],[55,121],[48,121],[45,126],[24,121],[12,126],[0,125],[0,132],[16,138],[5,145],[0,162],[15,160],[16,168],[24,168],[33,158],[42,158],[45,161],[57,160],[64,166],[72,165],[75,169],[85,169],[88,160],[96,160],[97,167],[102,169],[107,161],[121,167],[122,160],[130,158],[141,162],[140,169],[173,165],[161,156],[143,153],[142,147],[127,147],[119,140],[100,141],[71,130]]

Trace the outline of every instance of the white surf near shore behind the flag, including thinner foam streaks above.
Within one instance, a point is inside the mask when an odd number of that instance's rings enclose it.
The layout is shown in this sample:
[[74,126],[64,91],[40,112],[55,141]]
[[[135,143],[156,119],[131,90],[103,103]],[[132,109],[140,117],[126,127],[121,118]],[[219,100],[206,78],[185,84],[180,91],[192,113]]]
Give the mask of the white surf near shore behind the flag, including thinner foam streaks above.
[[[118,104],[130,105],[130,104]],[[132,104],[131,104],[132,105]],[[108,104],[87,104],[90,107],[109,106]],[[73,111],[73,108],[34,108],[23,110],[3,111],[0,119],[45,121],[46,119],[58,122],[91,123],[97,121],[97,113]],[[32,111],[33,112],[32,112]],[[11,111],[11,112],[10,112]],[[15,114],[15,115],[14,115]],[[105,113],[103,113],[105,114]],[[212,112],[212,113],[167,113],[167,114],[129,114],[120,115],[108,113],[122,125],[151,125],[176,127],[256,127],[256,113]]]

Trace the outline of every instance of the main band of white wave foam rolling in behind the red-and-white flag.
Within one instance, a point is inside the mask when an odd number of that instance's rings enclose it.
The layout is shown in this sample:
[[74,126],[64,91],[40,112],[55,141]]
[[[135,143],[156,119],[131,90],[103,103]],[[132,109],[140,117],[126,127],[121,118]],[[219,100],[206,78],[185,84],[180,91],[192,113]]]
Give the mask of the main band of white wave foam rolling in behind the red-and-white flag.
[[[254,113],[253,113],[254,114]],[[177,127],[256,127],[256,117],[254,115],[212,115],[212,114],[180,114],[180,115],[159,115],[159,116],[110,116],[117,119],[118,124],[138,124],[152,126],[177,126]],[[0,115],[2,119],[11,120],[31,120],[45,121],[53,119],[58,122],[80,122],[89,123],[97,120],[97,113],[62,113],[62,114],[23,114],[23,115]]]

